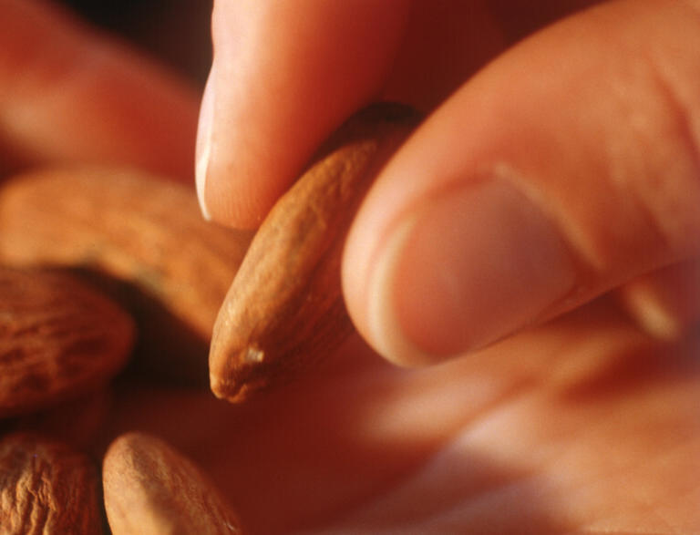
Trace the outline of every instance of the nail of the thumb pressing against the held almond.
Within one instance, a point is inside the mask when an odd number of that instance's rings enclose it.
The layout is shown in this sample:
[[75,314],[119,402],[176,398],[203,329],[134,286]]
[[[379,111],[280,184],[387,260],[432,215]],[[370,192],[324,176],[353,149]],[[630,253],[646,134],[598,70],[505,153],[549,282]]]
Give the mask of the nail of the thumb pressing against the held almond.
[[370,276],[376,349],[434,363],[529,324],[571,291],[559,232],[501,178],[446,191],[395,227]]

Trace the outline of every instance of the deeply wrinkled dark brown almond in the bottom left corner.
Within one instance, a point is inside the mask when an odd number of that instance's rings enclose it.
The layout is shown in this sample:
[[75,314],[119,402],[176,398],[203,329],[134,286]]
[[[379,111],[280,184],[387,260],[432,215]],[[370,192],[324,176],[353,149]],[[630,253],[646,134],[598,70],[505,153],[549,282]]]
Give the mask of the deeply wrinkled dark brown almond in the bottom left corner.
[[60,442],[0,439],[0,535],[102,533],[98,470]]

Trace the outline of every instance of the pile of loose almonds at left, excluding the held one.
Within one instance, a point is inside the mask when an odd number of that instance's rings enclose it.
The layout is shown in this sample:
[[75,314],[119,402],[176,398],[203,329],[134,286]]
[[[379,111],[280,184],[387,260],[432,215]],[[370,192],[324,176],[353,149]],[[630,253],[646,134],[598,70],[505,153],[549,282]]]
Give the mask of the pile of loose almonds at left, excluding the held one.
[[[139,172],[0,185],[0,533],[236,533],[210,480],[156,437],[106,431],[118,380],[207,381],[250,242]],[[101,474],[101,477],[100,477]]]

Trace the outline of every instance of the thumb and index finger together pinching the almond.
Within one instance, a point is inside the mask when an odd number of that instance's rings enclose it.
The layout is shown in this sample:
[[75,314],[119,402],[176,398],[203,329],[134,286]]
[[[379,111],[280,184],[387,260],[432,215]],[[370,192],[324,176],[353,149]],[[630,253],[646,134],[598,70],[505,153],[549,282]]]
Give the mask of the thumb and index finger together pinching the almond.
[[696,272],[696,6],[602,5],[459,87],[504,45],[502,21],[478,3],[411,5],[215,5],[205,211],[260,221],[355,108],[408,100],[436,109],[376,180],[343,266],[350,313],[381,354],[463,355],[642,275],[622,291],[646,327],[692,322],[700,305],[654,299]]

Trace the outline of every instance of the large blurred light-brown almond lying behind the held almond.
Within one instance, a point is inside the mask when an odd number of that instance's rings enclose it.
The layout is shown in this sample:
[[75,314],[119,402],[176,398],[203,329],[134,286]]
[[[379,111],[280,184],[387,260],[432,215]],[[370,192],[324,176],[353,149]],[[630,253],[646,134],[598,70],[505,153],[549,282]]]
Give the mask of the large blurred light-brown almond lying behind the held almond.
[[204,221],[194,190],[137,170],[36,170],[0,188],[0,262],[70,267],[139,325],[136,364],[207,385],[211,329],[252,232]]

